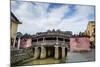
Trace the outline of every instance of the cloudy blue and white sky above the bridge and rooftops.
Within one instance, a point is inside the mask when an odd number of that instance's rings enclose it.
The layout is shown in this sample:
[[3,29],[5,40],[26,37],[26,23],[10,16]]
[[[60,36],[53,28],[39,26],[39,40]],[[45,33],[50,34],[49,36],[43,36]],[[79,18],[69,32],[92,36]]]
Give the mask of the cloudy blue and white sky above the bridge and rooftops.
[[95,6],[89,5],[11,1],[11,11],[22,22],[18,32],[31,35],[52,29],[78,34],[95,20]]

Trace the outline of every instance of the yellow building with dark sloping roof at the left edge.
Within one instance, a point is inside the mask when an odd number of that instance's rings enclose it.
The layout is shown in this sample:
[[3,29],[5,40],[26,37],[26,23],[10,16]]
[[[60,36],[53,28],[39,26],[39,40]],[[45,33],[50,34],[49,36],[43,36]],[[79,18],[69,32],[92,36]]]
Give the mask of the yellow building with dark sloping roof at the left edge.
[[11,26],[10,26],[10,32],[11,32],[11,46],[15,47],[16,42],[16,33],[18,24],[21,24],[21,22],[16,18],[16,16],[11,12]]

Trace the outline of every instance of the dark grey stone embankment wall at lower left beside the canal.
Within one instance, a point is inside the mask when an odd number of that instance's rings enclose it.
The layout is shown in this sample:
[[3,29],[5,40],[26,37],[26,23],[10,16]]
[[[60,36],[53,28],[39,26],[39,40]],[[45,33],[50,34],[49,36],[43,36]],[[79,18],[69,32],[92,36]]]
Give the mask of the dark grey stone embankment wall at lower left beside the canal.
[[18,64],[19,62],[33,57],[32,48],[12,50],[11,51],[11,64]]

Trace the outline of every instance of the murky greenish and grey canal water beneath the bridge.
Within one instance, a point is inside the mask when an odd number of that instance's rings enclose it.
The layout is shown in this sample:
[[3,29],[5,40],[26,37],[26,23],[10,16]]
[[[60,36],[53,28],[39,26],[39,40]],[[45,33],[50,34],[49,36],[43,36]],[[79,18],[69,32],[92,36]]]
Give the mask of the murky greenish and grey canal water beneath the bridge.
[[40,65],[40,64],[59,64],[59,63],[75,63],[95,61],[95,50],[89,52],[68,52],[65,59],[56,60],[54,58],[32,60],[23,65]]

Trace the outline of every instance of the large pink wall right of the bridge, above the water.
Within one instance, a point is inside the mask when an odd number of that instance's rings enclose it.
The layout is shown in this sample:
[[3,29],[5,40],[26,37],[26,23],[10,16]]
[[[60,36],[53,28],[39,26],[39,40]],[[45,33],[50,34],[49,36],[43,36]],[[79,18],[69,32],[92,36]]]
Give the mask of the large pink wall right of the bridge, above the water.
[[70,51],[90,51],[90,41],[88,37],[70,38]]

